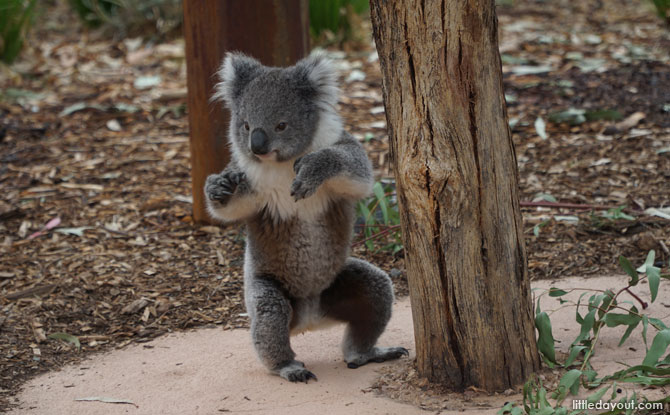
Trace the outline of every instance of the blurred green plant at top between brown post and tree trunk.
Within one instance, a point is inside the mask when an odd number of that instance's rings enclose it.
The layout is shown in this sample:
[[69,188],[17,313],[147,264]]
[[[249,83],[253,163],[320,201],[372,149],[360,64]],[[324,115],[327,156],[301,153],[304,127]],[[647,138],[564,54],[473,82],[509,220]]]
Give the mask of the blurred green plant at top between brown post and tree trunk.
[[309,26],[312,39],[346,40],[352,35],[351,22],[369,10],[367,0],[310,0]]

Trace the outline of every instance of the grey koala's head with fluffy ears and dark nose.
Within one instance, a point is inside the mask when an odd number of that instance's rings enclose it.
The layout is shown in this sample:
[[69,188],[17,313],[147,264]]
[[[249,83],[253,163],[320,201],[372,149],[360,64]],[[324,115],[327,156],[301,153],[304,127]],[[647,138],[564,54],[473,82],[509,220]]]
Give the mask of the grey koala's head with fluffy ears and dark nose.
[[337,77],[322,55],[274,68],[228,53],[219,76],[213,98],[231,110],[230,139],[238,157],[288,161],[339,138]]

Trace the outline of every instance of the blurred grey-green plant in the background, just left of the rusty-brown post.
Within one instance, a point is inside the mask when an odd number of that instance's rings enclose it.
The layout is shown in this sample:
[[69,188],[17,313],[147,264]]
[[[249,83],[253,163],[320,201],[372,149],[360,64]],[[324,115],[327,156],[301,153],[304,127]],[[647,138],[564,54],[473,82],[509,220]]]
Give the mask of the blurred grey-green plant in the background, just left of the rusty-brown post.
[[165,35],[182,22],[181,0],[69,0],[81,20],[122,35]]

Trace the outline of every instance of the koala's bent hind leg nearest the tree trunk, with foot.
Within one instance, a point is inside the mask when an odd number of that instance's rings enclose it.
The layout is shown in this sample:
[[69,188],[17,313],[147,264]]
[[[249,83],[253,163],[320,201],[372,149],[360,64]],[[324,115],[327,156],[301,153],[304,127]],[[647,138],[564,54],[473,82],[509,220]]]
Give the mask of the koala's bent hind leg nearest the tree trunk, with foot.
[[348,324],[342,351],[349,368],[408,355],[404,347],[376,347],[391,318],[393,286],[374,265],[349,258],[335,282],[321,294],[326,317]]

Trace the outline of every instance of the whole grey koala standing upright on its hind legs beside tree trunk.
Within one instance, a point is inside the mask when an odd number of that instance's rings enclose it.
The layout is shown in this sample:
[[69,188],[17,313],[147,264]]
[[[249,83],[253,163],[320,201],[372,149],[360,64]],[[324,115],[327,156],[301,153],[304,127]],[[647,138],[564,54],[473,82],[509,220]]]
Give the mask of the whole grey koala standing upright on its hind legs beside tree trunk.
[[210,215],[246,224],[244,297],[261,362],[292,382],[316,380],[290,336],[343,322],[349,368],[408,355],[377,347],[391,317],[388,275],[349,257],[355,203],[372,168],[337,113],[332,63],[311,55],[288,68],[229,53],[213,99],[231,112],[231,161],[205,185]]

